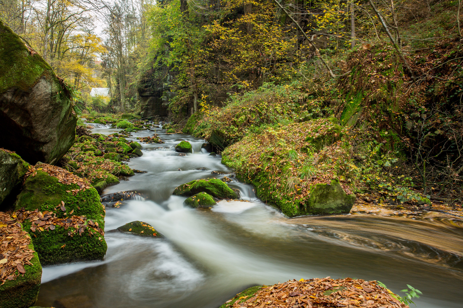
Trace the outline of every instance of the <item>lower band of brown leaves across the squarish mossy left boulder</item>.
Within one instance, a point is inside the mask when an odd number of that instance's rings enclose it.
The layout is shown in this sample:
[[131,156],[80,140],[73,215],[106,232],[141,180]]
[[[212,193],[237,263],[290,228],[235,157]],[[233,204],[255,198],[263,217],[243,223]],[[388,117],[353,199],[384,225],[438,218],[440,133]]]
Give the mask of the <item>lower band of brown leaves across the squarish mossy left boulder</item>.
[[[61,210],[66,211],[64,207],[64,202],[61,204]],[[72,215],[74,210],[69,212],[69,215]],[[29,219],[31,222],[31,231],[45,231],[45,230],[54,230],[56,226],[63,227],[64,229],[68,230],[68,236],[73,237],[75,234],[82,233],[88,229],[88,233],[90,235],[98,234],[104,236],[103,229],[100,228],[98,222],[93,221],[91,219],[87,219],[85,216],[71,216],[71,217],[57,217],[56,212],[53,211],[39,211],[36,209],[35,211],[25,211],[21,209],[16,212],[16,217],[19,222],[23,222],[26,219]]]

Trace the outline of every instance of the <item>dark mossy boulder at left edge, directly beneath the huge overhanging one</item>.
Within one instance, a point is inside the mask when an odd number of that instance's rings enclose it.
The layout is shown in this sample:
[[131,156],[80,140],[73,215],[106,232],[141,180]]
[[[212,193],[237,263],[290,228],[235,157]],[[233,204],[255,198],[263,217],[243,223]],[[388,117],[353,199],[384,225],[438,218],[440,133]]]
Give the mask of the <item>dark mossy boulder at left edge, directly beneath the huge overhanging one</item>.
[[10,194],[15,198],[19,193],[28,167],[18,154],[0,150],[0,206]]

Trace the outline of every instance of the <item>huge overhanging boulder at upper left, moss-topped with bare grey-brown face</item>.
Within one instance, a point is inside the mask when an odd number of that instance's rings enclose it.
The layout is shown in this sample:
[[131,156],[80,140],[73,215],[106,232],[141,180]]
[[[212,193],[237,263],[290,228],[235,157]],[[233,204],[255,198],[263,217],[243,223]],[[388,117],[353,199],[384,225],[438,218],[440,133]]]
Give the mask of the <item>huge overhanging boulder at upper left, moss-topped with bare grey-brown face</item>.
[[0,22],[0,145],[28,163],[56,163],[74,143],[69,94],[42,57]]

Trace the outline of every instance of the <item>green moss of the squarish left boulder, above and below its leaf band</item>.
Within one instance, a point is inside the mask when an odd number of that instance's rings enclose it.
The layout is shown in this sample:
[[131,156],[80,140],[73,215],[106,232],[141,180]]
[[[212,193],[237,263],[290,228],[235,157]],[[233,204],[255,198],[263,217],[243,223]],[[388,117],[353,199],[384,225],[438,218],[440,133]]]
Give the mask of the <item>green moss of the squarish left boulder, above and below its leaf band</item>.
[[[30,175],[25,180],[16,200],[16,209],[24,207],[26,211],[53,211],[57,217],[63,218],[70,217],[73,211],[72,215],[85,216],[104,229],[105,209],[95,188],[80,190],[73,195],[72,190],[80,188],[77,184],[62,184],[44,171],[36,172],[35,176]],[[61,201],[64,202],[65,212],[60,209]],[[88,228],[81,235],[77,233],[71,237],[68,231],[72,228],[56,226],[54,230],[33,232],[30,227],[31,222],[25,220],[24,229],[34,239],[35,250],[43,265],[102,260],[106,254],[103,236],[91,234]]]

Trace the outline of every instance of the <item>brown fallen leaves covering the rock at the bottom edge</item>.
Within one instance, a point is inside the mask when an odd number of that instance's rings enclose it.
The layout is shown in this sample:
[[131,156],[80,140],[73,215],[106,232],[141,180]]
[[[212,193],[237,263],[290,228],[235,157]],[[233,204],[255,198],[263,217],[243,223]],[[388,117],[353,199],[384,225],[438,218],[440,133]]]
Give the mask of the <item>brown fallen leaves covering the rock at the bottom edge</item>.
[[408,307],[396,297],[394,293],[378,285],[376,281],[326,277],[301,279],[300,281],[289,280],[282,284],[264,286],[248,300],[244,302],[237,300],[228,307]]

